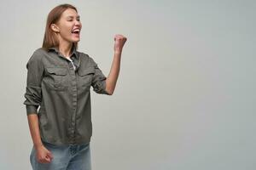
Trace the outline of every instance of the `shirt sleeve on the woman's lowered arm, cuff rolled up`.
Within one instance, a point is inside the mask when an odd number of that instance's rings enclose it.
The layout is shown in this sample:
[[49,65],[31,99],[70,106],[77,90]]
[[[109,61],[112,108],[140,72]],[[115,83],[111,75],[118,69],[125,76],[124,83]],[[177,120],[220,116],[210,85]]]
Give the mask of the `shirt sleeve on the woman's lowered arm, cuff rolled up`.
[[26,63],[26,93],[23,102],[26,105],[26,115],[38,114],[38,106],[42,101],[41,82],[44,74],[44,65],[41,55],[34,52]]

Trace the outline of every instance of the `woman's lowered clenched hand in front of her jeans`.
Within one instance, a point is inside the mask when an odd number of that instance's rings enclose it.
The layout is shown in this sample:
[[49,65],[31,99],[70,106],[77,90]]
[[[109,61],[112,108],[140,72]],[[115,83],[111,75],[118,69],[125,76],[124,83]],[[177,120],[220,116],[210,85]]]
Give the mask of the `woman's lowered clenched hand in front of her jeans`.
[[36,153],[37,160],[40,163],[49,163],[53,159],[52,153],[47,150],[44,145],[38,146],[36,148]]

